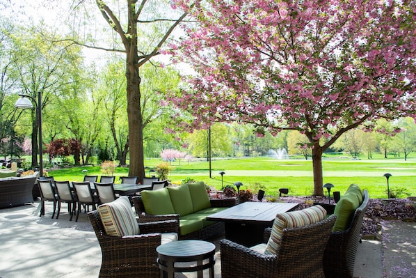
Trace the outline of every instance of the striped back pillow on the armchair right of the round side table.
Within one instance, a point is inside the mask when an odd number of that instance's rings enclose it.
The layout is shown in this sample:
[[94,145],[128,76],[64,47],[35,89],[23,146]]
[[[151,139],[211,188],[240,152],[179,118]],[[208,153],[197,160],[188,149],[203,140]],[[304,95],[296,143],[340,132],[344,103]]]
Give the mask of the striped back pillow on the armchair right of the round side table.
[[326,217],[326,210],[321,206],[312,206],[303,210],[290,211],[288,213],[278,213],[273,227],[269,242],[267,242],[264,254],[278,254],[280,240],[282,240],[283,229],[307,226],[322,221]]

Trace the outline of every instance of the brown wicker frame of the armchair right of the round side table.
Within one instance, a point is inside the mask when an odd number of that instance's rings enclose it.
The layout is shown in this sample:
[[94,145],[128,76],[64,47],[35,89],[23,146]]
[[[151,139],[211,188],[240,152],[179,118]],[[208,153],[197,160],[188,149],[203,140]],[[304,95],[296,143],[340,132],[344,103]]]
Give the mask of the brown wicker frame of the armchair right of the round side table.
[[284,229],[277,255],[262,254],[230,240],[221,240],[223,278],[324,278],[323,250],[335,215],[316,224]]

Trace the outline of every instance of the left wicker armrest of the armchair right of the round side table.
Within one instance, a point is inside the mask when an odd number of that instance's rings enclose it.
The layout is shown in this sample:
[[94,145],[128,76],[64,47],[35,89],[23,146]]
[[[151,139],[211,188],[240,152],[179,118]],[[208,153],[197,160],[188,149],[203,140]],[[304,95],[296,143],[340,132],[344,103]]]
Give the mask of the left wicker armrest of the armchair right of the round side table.
[[230,240],[220,241],[223,277],[274,277],[277,256],[254,251]]

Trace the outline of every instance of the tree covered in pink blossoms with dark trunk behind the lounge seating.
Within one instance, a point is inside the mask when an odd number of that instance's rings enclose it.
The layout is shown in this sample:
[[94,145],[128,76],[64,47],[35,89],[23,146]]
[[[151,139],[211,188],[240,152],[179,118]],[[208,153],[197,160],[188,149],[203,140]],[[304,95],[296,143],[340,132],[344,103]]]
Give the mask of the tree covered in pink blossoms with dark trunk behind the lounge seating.
[[410,0],[175,0],[197,22],[170,54],[192,65],[171,100],[193,127],[242,121],[298,130],[321,157],[344,132],[378,118],[416,118],[416,7]]

